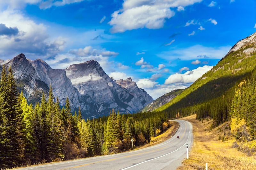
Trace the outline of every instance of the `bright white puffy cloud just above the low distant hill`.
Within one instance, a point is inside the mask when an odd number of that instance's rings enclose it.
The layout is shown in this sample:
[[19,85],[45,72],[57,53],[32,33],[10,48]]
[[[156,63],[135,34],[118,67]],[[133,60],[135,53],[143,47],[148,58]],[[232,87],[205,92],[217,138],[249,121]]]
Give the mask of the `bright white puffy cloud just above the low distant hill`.
[[193,83],[198,78],[200,78],[204,73],[211,70],[213,66],[204,65],[203,67],[198,67],[197,69],[187,71],[184,74],[176,73],[169,76],[164,84],[174,84],[174,83]]

